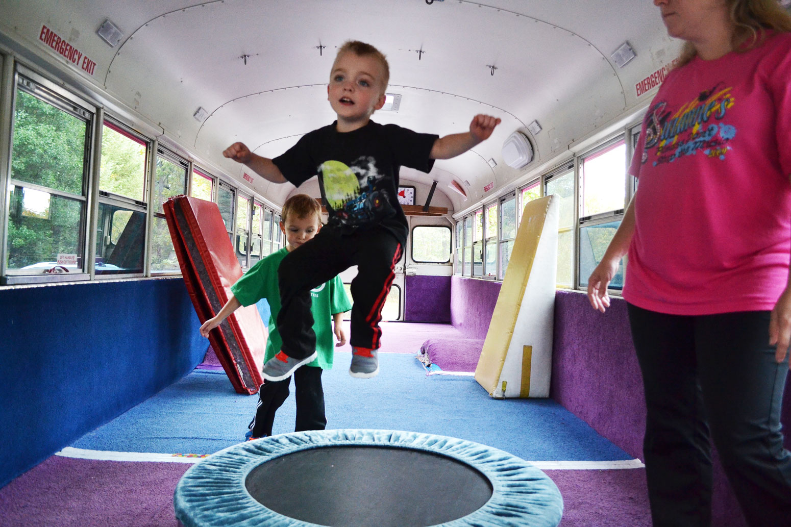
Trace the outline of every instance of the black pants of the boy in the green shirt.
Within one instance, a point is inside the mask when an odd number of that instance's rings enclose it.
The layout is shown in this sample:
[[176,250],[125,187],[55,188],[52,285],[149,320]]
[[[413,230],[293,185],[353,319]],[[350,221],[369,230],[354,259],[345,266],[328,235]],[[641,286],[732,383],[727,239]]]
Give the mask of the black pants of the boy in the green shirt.
[[[321,372],[316,366],[301,366],[294,371],[294,396],[297,398],[297,423],[295,432],[303,430],[324,430],[327,417],[324,415],[324,387],[321,385]],[[289,396],[291,377],[282,381],[263,381],[258,390],[258,406],[255,417],[248,428],[252,437],[266,438],[272,434],[274,412]]]

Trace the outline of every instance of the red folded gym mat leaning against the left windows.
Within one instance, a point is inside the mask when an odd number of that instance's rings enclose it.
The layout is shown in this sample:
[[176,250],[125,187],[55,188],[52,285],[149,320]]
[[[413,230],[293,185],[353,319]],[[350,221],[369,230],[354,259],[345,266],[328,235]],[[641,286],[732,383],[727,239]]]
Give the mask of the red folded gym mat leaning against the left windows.
[[[217,203],[177,195],[164,207],[184,283],[203,323],[231,297],[231,286],[242,275],[239,261]],[[267,328],[255,305],[237,309],[209,340],[237,393],[257,393]]]

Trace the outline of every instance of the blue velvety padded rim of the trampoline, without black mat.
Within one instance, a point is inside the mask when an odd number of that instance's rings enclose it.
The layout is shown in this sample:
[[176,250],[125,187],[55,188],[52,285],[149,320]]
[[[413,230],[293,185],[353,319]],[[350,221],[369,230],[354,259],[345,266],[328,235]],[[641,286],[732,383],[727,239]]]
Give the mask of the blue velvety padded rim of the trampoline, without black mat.
[[441,527],[555,527],[563,500],[558,487],[528,461],[464,439],[393,430],[314,430],[230,446],[192,466],[176,485],[173,506],[184,527],[317,527],[257,502],[244,481],[276,457],[327,446],[388,446],[445,455],[482,472],[492,496],[479,510]]

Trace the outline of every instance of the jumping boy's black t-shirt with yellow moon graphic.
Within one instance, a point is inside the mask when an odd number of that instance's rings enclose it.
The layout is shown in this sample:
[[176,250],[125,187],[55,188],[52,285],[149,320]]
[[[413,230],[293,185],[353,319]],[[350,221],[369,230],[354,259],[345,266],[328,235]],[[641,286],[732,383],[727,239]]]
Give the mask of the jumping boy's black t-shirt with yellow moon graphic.
[[297,186],[319,176],[328,226],[351,233],[380,225],[403,245],[408,225],[395,194],[399,169],[430,172],[429,154],[439,136],[373,121],[341,133],[335,124],[308,132],[272,161]]

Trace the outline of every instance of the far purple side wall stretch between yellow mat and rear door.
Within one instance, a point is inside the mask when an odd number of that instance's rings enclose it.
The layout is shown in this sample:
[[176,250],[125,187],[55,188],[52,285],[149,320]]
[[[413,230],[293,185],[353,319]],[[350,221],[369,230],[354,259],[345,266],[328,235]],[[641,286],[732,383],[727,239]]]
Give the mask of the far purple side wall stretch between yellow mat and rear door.
[[451,324],[468,339],[486,339],[501,282],[452,276]]

